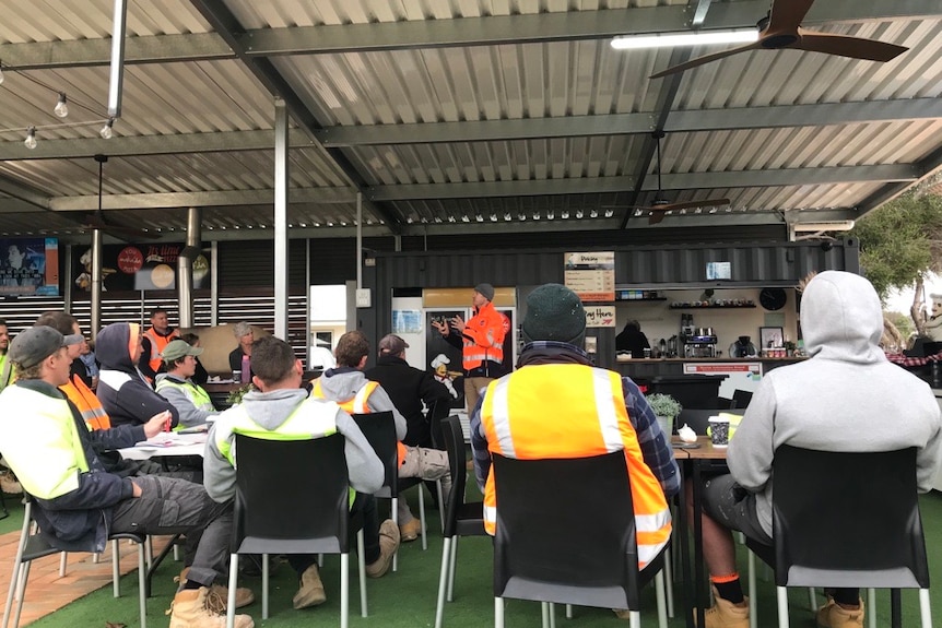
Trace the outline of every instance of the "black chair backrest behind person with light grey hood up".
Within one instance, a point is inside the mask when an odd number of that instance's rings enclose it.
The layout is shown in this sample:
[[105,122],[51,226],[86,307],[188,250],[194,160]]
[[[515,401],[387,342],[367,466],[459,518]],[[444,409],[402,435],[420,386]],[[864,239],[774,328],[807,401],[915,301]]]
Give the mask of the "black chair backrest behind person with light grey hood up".
[[773,461],[779,585],[928,588],[916,449],[780,446]]

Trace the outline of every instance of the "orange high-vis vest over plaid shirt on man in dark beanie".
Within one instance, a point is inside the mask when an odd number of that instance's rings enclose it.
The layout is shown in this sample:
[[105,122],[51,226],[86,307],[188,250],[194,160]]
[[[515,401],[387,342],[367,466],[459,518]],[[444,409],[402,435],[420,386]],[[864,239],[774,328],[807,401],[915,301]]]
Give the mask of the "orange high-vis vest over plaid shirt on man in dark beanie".
[[[638,567],[644,568],[667,544],[671,513],[641,457],[619,374],[578,364],[526,366],[487,387],[481,423],[487,449],[505,458],[587,458],[623,450],[632,484]],[[492,470],[484,488],[488,534],[495,533],[496,522]]]

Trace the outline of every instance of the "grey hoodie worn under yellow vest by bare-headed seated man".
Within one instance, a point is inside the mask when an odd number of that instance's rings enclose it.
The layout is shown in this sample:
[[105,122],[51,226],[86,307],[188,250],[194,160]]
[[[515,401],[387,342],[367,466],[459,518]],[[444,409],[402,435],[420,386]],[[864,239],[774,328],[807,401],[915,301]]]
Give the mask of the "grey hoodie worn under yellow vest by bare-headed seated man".
[[[294,408],[305,399],[307,399],[306,390],[293,388],[270,392],[249,392],[242,402],[252,420],[273,431],[291,416]],[[220,502],[235,497],[235,469],[216,447],[216,429],[231,420],[227,415],[231,416],[229,411],[224,411],[216,417],[215,423],[210,428],[207,449],[203,454],[203,485],[210,497]],[[382,486],[385,477],[382,463],[349,414],[338,408],[335,422],[337,431],[346,439],[344,452],[350,473],[350,485],[363,494],[376,493]]]

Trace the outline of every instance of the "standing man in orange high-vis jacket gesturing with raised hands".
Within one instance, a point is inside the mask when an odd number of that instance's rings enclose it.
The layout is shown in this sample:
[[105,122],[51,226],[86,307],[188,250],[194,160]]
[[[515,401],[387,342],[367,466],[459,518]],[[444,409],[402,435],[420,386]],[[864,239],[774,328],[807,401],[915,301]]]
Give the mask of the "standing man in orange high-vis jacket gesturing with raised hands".
[[[504,367],[504,337],[510,331],[510,321],[494,308],[494,286],[478,284],[471,303],[474,316],[468,322],[460,316],[448,323],[432,321],[432,325],[448,342],[461,349],[464,368],[464,407],[468,414],[478,405],[480,391],[507,374]],[[452,333],[452,328],[457,333]]]

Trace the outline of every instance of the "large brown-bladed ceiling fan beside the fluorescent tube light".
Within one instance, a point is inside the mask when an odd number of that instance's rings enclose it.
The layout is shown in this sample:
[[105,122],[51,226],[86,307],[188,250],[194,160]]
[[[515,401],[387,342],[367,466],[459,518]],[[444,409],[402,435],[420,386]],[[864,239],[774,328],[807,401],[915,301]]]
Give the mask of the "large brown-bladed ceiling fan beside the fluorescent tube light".
[[691,59],[686,63],[680,63],[651,74],[651,79],[659,79],[668,74],[683,72],[723,57],[745,52],[746,50],[780,50],[792,48],[808,52],[824,52],[825,55],[838,55],[851,59],[866,59],[869,61],[886,62],[895,59],[908,48],[895,44],[886,44],[876,39],[864,39],[863,37],[850,37],[823,33],[821,31],[808,31],[801,27],[814,0],[772,0],[772,9],[768,14],[758,21],[758,40],[739,48],[731,48],[722,52],[715,52],[704,57]]

